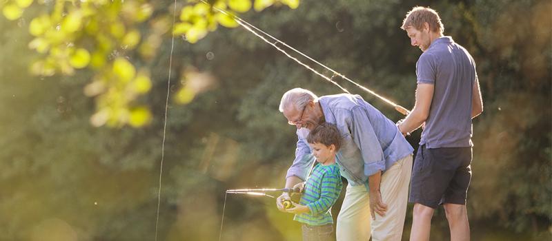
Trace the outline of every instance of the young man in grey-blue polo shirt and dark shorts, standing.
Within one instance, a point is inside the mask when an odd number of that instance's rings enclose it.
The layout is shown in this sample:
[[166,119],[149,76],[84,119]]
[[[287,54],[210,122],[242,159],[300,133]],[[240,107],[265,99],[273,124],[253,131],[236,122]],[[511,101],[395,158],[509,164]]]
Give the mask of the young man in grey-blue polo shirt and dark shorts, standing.
[[469,240],[471,119],[483,112],[475,62],[466,49],[443,36],[441,19],[431,8],[413,8],[401,28],[423,52],[416,63],[414,108],[398,124],[404,135],[425,124],[412,172],[411,240],[429,240],[438,205],[444,205],[451,240]]

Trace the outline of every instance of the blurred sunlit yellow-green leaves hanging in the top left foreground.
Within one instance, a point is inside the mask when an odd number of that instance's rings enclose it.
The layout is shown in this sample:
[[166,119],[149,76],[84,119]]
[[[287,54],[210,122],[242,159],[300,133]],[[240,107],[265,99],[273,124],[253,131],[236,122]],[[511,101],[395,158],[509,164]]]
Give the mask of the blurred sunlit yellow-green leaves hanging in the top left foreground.
[[[299,1],[256,0],[255,10],[274,3],[297,8]],[[9,0],[1,8],[6,19],[17,20],[31,4],[32,0]],[[178,10],[180,21],[171,36],[182,35],[196,43],[219,24],[237,27],[233,12],[247,12],[252,5],[251,0],[190,1]],[[96,99],[92,125],[142,127],[150,123],[150,109],[139,97],[148,94],[150,60],[170,30],[167,6],[144,0],[56,0],[38,1],[35,9],[29,25],[34,39],[29,48],[41,56],[32,63],[32,74],[72,76],[75,70],[90,67],[96,73],[86,90]],[[137,66],[142,70],[134,79]],[[181,90],[186,91],[185,87]]]

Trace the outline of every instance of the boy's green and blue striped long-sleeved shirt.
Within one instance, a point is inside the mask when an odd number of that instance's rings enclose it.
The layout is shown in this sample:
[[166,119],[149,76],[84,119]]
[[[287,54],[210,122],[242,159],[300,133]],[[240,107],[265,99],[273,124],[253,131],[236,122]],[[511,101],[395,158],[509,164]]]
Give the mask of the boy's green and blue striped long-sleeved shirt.
[[300,205],[306,205],[311,211],[296,214],[293,220],[313,226],[333,223],[330,209],[339,198],[342,187],[337,164],[324,166],[318,163],[306,181],[299,201]]

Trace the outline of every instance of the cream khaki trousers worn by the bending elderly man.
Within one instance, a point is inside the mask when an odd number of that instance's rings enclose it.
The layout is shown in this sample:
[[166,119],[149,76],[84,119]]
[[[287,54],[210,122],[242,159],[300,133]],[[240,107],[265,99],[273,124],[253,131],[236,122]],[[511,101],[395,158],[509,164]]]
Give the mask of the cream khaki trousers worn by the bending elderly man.
[[382,201],[387,205],[384,217],[370,215],[370,199],[366,186],[347,185],[345,198],[337,216],[337,241],[401,240],[408,202],[408,184],[412,171],[412,155],[398,160],[385,171],[380,184]]

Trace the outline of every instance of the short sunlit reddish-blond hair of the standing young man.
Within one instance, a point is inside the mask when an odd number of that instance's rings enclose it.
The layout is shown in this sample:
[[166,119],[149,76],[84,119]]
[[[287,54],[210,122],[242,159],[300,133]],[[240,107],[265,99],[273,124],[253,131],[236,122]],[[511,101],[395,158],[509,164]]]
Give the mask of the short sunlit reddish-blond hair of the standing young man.
[[422,30],[424,23],[428,23],[429,29],[432,32],[438,32],[442,34],[444,32],[444,26],[441,22],[439,14],[431,8],[416,6],[410,12],[406,13],[406,17],[402,21],[402,30],[406,30],[408,27],[414,27],[416,30]]

